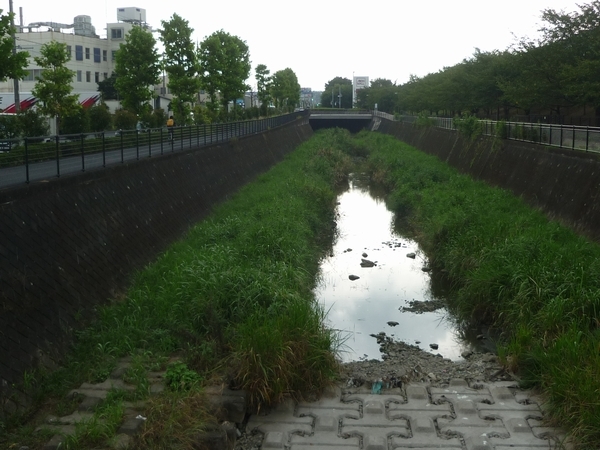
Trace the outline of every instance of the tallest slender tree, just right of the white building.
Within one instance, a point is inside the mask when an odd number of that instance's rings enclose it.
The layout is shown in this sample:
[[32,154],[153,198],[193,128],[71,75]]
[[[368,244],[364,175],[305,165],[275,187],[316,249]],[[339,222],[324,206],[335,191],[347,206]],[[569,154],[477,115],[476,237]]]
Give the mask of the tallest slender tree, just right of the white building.
[[160,39],[165,46],[164,67],[169,76],[168,86],[179,100],[173,103],[177,105],[175,121],[185,124],[189,120],[190,105],[193,107],[200,90],[196,49],[191,38],[194,29],[177,14],[161,23]]

